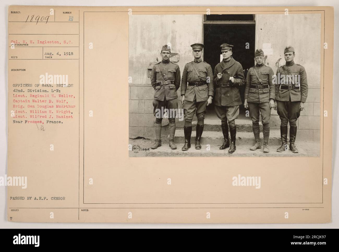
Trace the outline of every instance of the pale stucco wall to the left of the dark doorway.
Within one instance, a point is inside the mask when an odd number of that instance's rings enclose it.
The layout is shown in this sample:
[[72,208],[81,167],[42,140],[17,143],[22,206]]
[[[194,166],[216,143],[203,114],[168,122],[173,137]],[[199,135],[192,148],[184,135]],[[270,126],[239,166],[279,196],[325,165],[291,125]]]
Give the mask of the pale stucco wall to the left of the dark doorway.
[[[187,17],[189,16],[189,18]],[[190,24],[187,24],[190,20]],[[171,43],[172,53],[179,53],[176,62],[182,73],[193,60],[191,44],[202,42],[203,15],[131,15],[129,16],[129,136],[154,138],[153,95],[147,77],[149,62],[161,60],[162,45]],[[180,98],[180,88],[178,99]],[[181,103],[179,102],[179,109]],[[177,127],[183,127],[178,121]],[[162,135],[167,134],[167,128]]]

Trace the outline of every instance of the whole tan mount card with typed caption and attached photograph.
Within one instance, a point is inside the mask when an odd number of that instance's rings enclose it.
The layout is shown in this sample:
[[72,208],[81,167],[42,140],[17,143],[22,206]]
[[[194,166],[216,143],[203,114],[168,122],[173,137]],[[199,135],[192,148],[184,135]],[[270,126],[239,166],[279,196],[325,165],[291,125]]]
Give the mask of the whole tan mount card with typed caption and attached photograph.
[[8,7],[7,220],[327,223],[334,11]]

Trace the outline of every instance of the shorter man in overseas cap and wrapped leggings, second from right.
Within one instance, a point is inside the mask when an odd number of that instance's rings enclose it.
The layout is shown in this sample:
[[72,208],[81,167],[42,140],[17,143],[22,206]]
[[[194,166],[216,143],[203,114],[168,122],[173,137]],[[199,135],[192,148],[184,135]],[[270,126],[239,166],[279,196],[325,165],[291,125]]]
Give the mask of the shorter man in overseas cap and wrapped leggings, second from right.
[[264,52],[257,49],[254,54],[256,65],[252,66],[246,76],[245,87],[245,109],[250,109],[252,119],[252,128],[255,138],[254,145],[250,150],[254,151],[261,148],[260,130],[259,130],[259,111],[261,113],[261,122],[263,125],[262,133],[264,135],[263,152],[270,152],[268,149],[268,137],[270,136],[270,117],[271,108],[274,107],[275,84],[272,83],[273,70],[264,64]]

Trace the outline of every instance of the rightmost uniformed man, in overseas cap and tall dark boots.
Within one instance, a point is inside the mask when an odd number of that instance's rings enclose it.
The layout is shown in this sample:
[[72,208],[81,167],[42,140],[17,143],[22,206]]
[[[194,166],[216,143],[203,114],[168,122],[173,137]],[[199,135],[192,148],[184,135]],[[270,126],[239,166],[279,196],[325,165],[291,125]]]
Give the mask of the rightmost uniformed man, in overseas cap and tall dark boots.
[[297,135],[297,119],[300,111],[304,109],[308,86],[305,68],[294,63],[295,51],[292,46],[287,46],[284,50],[286,64],[277,69],[275,79],[275,99],[274,109],[277,110],[281,120],[280,135],[281,146],[278,152],[287,149],[287,123],[290,122],[290,150],[297,153],[295,139]]

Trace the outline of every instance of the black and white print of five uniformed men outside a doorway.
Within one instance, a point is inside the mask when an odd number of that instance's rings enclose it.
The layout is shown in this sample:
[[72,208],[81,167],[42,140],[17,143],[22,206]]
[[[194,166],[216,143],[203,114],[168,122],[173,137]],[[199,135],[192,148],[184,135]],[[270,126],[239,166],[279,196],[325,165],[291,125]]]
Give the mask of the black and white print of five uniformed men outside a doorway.
[[325,46],[321,14],[130,15],[129,156],[319,156]]

